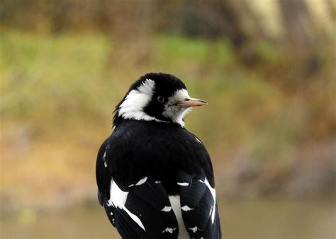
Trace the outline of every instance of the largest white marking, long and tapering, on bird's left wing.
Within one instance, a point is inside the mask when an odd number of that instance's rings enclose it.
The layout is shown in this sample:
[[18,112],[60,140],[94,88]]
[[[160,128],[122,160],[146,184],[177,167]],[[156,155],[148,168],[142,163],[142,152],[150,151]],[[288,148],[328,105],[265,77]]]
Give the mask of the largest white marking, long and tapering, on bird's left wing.
[[136,216],[135,214],[133,214],[132,212],[130,212],[126,207],[125,207],[125,203],[127,200],[127,196],[128,196],[128,192],[124,192],[123,190],[121,190],[118,185],[116,184],[116,182],[114,182],[113,178],[111,179],[111,187],[110,187],[110,199],[107,202],[108,206],[116,206],[120,209],[123,209],[128,216],[130,216],[130,218],[133,219],[133,221],[135,221],[135,223],[137,223],[140,228],[142,228],[144,231],[145,227],[143,226],[142,222],[140,221],[140,218],[138,218],[138,216]]

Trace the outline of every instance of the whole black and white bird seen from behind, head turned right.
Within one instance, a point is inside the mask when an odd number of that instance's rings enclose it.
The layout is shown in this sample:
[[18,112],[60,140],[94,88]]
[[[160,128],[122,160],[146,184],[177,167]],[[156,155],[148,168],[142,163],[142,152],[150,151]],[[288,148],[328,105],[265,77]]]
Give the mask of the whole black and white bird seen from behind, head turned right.
[[96,161],[98,199],[122,238],[221,238],[211,158],[184,128],[190,98],[176,76],[130,86]]

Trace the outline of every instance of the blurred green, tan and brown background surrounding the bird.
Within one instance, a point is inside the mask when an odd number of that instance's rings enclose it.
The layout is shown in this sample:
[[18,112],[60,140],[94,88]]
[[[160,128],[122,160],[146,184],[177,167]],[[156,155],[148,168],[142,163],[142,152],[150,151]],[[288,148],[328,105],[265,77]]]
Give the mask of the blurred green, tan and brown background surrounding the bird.
[[95,162],[166,72],[213,159],[225,238],[335,238],[333,0],[0,1],[1,238],[118,238]]

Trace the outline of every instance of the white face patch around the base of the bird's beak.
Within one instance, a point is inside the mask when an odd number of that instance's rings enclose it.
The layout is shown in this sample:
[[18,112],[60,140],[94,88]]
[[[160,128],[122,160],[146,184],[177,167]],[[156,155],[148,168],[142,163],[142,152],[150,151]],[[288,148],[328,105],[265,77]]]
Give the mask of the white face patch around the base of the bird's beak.
[[173,122],[180,124],[181,126],[184,126],[183,118],[191,111],[191,108],[184,108],[179,107],[176,104],[179,101],[189,99],[190,96],[188,94],[188,91],[186,89],[178,90],[168,98],[167,103],[164,105],[164,111],[162,112],[162,115],[164,117],[167,117],[169,119],[172,119]]

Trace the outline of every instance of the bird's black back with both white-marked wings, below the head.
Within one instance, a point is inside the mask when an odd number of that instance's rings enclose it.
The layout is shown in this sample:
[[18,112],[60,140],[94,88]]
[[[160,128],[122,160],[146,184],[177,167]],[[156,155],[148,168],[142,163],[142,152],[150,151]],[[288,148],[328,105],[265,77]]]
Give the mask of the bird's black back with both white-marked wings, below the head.
[[210,157],[177,124],[123,121],[99,150],[96,177],[123,238],[177,238],[181,224],[194,238],[220,238]]

